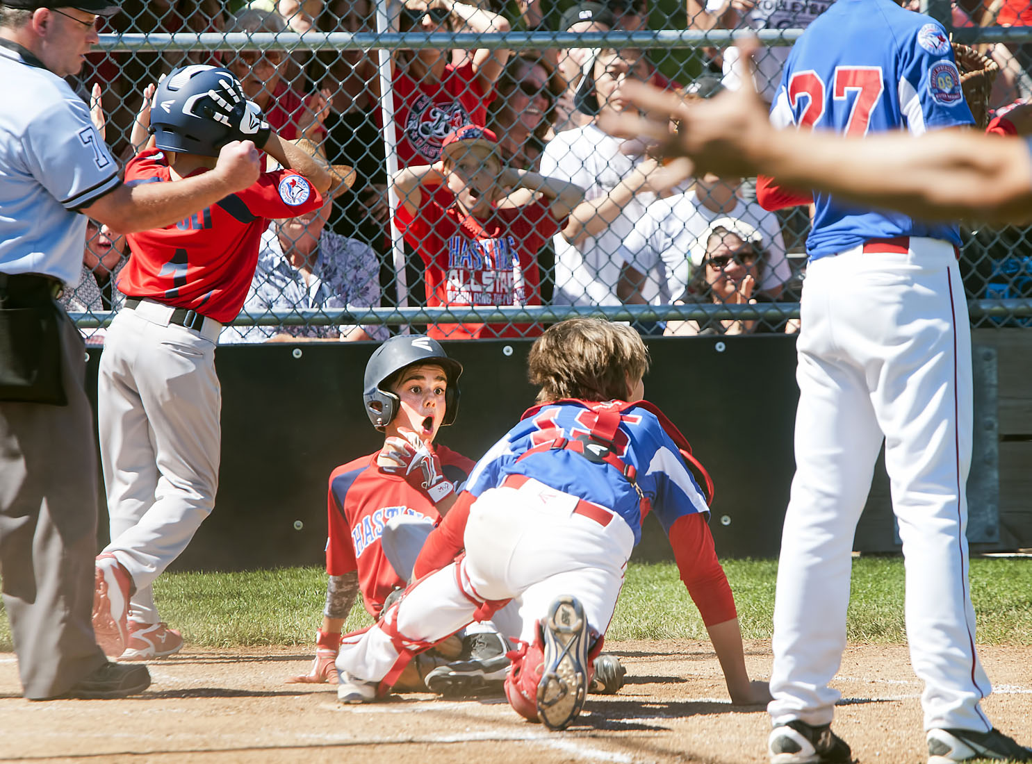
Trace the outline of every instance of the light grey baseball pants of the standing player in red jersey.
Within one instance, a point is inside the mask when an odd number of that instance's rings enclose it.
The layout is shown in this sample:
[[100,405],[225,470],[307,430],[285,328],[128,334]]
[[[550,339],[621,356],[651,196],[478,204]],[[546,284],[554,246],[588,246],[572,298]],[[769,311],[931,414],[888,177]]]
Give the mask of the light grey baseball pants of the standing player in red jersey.
[[[100,357],[97,419],[114,553],[133,583],[129,618],[158,623],[151,583],[212,512],[222,393],[216,323],[204,335],[141,302],[115,317]],[[214,336],[212,336],[214,334]]]

